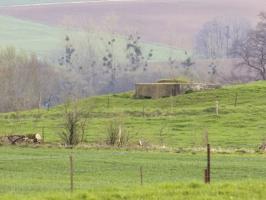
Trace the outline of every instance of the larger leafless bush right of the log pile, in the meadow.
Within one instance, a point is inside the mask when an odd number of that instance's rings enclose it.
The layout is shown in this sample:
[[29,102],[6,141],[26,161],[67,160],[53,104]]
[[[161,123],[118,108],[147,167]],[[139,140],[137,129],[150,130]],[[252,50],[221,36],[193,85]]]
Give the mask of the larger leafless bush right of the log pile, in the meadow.
[[60,133],[60,138],[68,146],[75,146],[83,142],[86,128],[86,119],[82,119],[81,112],[76,104],[66,104],[64,110],[64,131]]

